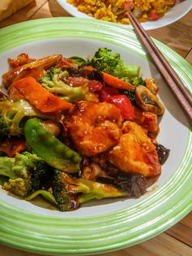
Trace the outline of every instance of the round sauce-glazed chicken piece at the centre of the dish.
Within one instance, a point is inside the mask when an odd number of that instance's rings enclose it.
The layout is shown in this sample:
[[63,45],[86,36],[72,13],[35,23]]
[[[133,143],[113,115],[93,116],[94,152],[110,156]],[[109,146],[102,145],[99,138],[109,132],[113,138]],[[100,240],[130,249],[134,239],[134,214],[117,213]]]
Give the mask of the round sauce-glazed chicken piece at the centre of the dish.
[[118,143],[123,120],[115,105],[81,101],[71,114],[65,126],[76,150],[82,155],[94,156]]

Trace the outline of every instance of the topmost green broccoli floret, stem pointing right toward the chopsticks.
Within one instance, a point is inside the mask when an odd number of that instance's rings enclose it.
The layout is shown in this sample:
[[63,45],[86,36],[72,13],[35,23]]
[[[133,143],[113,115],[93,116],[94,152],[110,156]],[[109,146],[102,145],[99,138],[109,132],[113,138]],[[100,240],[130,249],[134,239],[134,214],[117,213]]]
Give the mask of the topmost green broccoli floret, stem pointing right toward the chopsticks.
[[94,58],[87,61],[87,65],[119,78],[137,77],[139,73],[139,66],[124,64],[119,53],[111,53],[105,47],[99,48]]

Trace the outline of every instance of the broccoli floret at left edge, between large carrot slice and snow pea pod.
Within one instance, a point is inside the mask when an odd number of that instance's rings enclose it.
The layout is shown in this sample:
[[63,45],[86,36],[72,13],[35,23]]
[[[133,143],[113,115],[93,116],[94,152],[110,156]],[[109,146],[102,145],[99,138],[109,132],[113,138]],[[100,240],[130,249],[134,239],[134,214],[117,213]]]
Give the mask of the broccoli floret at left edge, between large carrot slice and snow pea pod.
[[24,117],[53,118],[37,112],[24,99],[17,101],[3,99],[0,101],[0,137],[22,135],[24,133]]

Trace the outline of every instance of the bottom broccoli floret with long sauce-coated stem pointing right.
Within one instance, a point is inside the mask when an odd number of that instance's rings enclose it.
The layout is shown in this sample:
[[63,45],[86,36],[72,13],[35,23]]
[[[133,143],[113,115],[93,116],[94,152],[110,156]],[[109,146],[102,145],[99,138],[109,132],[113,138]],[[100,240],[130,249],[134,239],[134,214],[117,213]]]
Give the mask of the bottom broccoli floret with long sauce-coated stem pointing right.
[[55,170],[53,196],[61,211],[75,210],[81,203],[105,197],[126,196],[127,193],[108,184],[88,179],[72,178],[68,174]]

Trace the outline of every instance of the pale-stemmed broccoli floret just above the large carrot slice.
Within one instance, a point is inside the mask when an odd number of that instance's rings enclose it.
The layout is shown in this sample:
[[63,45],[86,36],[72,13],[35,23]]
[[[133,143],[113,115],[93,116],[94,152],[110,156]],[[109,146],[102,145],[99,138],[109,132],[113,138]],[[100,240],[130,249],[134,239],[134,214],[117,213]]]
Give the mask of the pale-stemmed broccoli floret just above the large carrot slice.
[[57,94],[62,99],[74,102],[85,99],[85,94],[89,91],[88,86],[72,87],[67,84],[68,71],[62,68],[50,68],[39,82],[53,94]]

